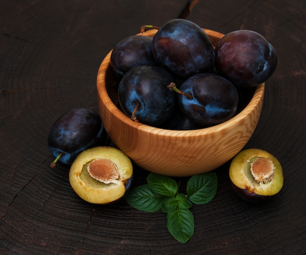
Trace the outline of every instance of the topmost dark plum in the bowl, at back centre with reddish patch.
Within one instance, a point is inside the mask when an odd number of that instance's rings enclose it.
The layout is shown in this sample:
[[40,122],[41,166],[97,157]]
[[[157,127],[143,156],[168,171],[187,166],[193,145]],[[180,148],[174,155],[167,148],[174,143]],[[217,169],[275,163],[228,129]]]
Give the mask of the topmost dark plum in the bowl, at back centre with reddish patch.
[[191,21],[174,19],[165,23],[153,37],[152,50],[157,64],[179,79],[209,72],[215,66],[215,50],[209,37]]

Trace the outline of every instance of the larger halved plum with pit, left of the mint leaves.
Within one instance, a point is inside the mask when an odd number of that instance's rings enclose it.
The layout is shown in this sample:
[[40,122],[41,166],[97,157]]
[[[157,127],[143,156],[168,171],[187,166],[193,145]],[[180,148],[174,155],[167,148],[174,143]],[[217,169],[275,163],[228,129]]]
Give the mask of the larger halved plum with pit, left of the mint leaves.
[[117,202],[131,187],[133,166],[121,150],[98,146],[81,152],[72,163],[69,182],[73,190],[92,204]]

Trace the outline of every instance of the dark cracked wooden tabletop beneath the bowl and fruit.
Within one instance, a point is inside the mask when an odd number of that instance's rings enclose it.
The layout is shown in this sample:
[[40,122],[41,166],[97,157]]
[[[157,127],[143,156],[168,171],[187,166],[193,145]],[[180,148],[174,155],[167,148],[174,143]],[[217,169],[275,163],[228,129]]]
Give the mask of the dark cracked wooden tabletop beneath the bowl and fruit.
[[[306,254],[306,1],[0,1],[0,254]],[[74,107],[98,110],[96,75],[104,56],[142,24],[173,18],[228,33],[251,29],[277,49],[262,115],[245,148],[276,156],[284,187],[270,203],[249,204],[232,190],[229,163],[207,205],[193,206],[194,236],[180,244],[165,214],[125,201],[94,206],[49,167],[47,135]],[[135,168],[135,185],[148,172]],[[184,180],[183,180],[184,182]]]

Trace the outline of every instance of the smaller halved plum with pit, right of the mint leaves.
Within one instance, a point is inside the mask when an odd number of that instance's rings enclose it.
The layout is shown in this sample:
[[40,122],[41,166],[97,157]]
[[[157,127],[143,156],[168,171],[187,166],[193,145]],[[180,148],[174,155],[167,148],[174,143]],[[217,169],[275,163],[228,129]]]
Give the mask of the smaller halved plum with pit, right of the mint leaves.
[[229,176],[235,192],[250,202],[267,200],[284,184],[281,163],[261,149],[240,151],[231,162]]

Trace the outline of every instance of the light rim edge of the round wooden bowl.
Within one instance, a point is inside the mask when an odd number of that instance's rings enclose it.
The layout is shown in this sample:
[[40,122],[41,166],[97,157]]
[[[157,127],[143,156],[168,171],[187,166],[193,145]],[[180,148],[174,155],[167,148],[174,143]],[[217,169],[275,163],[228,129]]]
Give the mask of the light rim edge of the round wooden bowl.
[[[219,36],[218,40],[224,36],[224,34],[221,34],[219,32],[216,32],[214,30],[210,29],[204,29],[202,28],[208,35],[213,33],[215,36]],[[154,33],[156,33],[155,29],[149,30],[145,33],[140,33],[137,35],[146,35],[146,36],[152,36]],[[188,134],[188,136],[203,136],[207,134],[216,133],[219,131],[222,131],[224,129],[228,129],[232,126],[235,126],[238,124],[241,119],[244,119],[246,116],[248,116],[251,112],[253,112],[259,103],[262,103],[262,96],[264,94],[264,87],[265,83],[262,83],[258,86],[256,86],[254,94],[252,98],[250,99],[249,103],[238,113],[237,115],[233,116],[227,121],[224,121],[218,125],[214,125],[211,127],[201,128],[201,129],[195,129],[195,130],[171,130],[171,129],[162,129],[157,128],[153,126],[149,126],[137,121],[132,121],[129,116],[126,116],[110,99],[109,94],[106,89],[106,72],[108,70],[109,62],[110,62],[110,55],[111,55],[112,49],[109,51],[109,53],[105,56],[103,59],[97,75],[97,92],[98,97],[100,97],[101,101],[105,105],[105,107],[108,109],[108,111],[115,116],[116,118],[120,119],[125,124],[131,126],[131,128],[138,129],[142,132],[147,133],[153,133],[155,135],[162,135],[162,136],[176,136],[176,137],[184,137]]]

